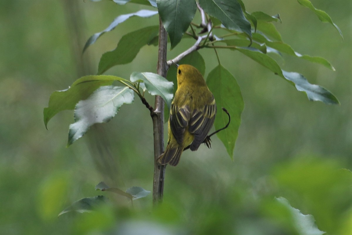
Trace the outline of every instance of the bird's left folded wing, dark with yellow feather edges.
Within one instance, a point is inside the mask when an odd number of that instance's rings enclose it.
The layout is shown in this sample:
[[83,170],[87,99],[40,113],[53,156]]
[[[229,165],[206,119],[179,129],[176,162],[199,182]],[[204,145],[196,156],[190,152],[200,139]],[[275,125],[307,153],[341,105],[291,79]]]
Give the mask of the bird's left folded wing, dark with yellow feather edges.
[[169,123],[172,134],[179,144],[183,142],[183,134],[186,126],[188,126],[189,118],[190,111],[188,105],[178,107],[174,103],[171,104]]

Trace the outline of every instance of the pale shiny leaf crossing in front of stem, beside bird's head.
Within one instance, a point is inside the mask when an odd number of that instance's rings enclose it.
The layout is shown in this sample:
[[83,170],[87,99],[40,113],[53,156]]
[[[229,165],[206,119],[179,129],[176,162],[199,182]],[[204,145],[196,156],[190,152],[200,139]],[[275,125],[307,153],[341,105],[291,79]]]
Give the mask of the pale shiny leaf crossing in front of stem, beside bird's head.
[[145,88],[148,93],[151,95],[160,95],[165,103],[171,106],[172,97],[174,94],[172,93],[174,89],[174,84],[163,78],[162,76],[155,73],[138,73],[134,72],[131,74],[130,80],[132,82],[142,81],[144,82]]

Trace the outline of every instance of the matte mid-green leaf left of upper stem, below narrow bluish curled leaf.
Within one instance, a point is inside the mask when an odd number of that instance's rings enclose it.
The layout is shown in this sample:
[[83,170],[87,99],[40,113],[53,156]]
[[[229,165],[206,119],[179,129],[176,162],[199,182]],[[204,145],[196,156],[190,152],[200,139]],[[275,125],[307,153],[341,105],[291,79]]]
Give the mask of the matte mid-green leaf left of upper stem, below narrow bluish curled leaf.
[[133,61],[140,48],[149,44],[159,33],[159,26],[149,26],[124,35],[117,48],[104,53],[99,62],[98,74],[118,64],[127,64]]

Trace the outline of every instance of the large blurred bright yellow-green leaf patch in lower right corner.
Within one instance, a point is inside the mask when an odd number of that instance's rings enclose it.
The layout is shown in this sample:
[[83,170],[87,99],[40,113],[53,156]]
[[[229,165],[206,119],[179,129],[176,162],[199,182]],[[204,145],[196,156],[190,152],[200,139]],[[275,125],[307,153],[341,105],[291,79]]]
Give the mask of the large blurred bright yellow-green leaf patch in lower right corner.
[[280,196],[312,214],[328,234],[340,233],[352,209],[352,173],[338,158],[302,155],[274,167],[271,177]]

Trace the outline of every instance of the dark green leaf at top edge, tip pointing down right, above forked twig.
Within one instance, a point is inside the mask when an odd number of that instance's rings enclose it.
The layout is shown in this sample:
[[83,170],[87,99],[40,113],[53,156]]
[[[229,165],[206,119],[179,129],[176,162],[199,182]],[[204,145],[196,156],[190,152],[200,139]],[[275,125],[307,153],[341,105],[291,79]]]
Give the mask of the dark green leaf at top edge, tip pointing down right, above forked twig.
[[199,4],[210,16],[218,18],[227,29],[244,32],[252,41],[251,24],[244,17],[238,1],[199,0]]

